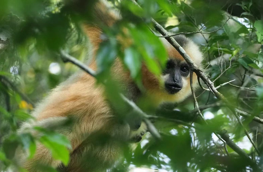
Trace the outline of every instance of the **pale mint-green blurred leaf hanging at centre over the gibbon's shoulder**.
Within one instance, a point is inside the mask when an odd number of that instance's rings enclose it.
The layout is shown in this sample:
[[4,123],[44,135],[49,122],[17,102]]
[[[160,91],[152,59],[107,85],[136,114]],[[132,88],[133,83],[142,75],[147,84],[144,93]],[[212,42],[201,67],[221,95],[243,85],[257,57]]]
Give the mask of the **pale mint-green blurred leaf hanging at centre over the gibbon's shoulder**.
[[130,69],[131,77],[135,78],[141,69],[140,54],[134,48],[125,49],[124,64]]

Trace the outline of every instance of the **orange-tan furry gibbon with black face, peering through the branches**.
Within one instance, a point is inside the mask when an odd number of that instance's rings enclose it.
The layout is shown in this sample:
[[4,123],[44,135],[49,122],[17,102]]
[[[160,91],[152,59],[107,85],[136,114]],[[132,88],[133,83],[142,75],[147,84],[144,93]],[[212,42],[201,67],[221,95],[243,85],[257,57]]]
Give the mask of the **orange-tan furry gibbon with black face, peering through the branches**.
[[[104,2],[98,2],[95,5],[95,15],[110,26],[119,16],[106,9]],[[92,24],[84,25],[83,30],[92,43],[90,54],[95,58],[103,33],[101,29]],[[203,56],[198,46],[183,35],[174,36],[174,39],[201,68]],[[164,102],[181,102],[191,94],[189,66],[166,39],[161,38],[161,40],[168,54],[166,69],[160,80],[145,65],[142,65],[141,75],[145,91],[138,88],[131,79],[130,73],[123,68],[120,60],[116,59],[112,66],[112,76],[123,86],[124,95],[135,103],[139,99],[145,99],[157,107]],[[89,66],[96,70],[94,60]],[[195,74],[193,83],[197,85]],[[129,120],[126,121],[116,119],[115,110],[104,95],[104,87],[97,85],[96,79],[83,71],[79,71],[57,86],[39,103],[32,112],[32,116],[36,120],[24,123],[20,132],[33,126],[56,128],[57,132],[68,138],[72,150],[70,150],[70,161],[66,167],[61,161],[54,160],[51,152],[40,143],[37,143],[34,157],[29,160],[26,159],[22,149],[17,150],[16,159],[29,172],[41,171],[38,169],[39,164],[49,165],[65,172],[106,170],[118,160],[122,153],[123,143],[130,140],[140,141],[142,135],[147,131],[146,124],[140,118],[134,117],[133,119],[133,116],[129,116]],[[68,117],[72,118],[73,122],[70,127],[64,127],[63,124],[66,123]],[[37,135],[38,133],[33,132],[32,134]]]

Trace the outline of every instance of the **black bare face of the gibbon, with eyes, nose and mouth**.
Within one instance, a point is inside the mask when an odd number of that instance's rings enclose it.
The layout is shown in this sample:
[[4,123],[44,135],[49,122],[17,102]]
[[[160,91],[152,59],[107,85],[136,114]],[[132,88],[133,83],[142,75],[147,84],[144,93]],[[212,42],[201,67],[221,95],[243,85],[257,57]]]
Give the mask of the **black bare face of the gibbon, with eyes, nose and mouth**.
[[176,59],[169,59],[166,63],[166,69],[163,71],[165,76],[165,90],[169,94],[178,93],[183,88],[183,78],[190,73],[186,62],[180,62]]

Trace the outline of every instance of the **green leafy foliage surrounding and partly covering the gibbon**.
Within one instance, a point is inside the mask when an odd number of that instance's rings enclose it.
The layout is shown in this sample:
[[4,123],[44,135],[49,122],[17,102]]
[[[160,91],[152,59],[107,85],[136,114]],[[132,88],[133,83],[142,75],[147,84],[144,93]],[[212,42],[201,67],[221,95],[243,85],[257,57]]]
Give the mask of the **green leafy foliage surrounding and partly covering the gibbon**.
[[[160,34],[154,31],[154,35],[150,30],[154,30],[151,18],[169,32],[187,33],[200,45],[207,67],[205,73],[215,86],[235,79],[218,89],[230,104],[225,105],[210,91],[200,89],[196,96],[207,124],[194,110],[192,97],[180,105],[164,105],[158,109],[154,123],[162,139],[157,141],[150,133],[146,134],[140,143],[127,148],[125,156],[110,170],[147,167],[214,172],[263,168],[261,0],[138,0],[142,8],[129,0],[111,0],[112,8],[120,10],[122,15],[111,28],[94,19],[95,2],[0,1],[0,171],[15,165],[13,156],[18,146],[32,158],[37,142],[51,150],[55,159],[68,163],[71,146],[63,135],[35,127],[34,130],[42,133],[41,137],[35,138],[29,132],[17,133],[17,130],[21,122],[32,118],[30,112],[35,102],[78,70],[70,63],[63,63],[59,51],[63,49],[80,61],[86,60],[89,38],[83,33],[81,23],[95,22],[109,38],[97,55],[99,76],[109,77],[110,66],[118,57],[140,86],[142,62],[158,75],[162,66],[153,56],[158,57],[162,65],[166,58],[164,46],[157,36]],[[123,27],[128,34],[123,32]],[[116,37],[120,35],[123,39],[117,41]],[[240,110],[237,116],[229,107]],[[187,123],[178,124],[175,120]],[[191,122],[194,122],[192,126],[189,125]],[[258,167],[215,136],[214,133],[222,130]],[[56,170],[45,167],[43,171]]]

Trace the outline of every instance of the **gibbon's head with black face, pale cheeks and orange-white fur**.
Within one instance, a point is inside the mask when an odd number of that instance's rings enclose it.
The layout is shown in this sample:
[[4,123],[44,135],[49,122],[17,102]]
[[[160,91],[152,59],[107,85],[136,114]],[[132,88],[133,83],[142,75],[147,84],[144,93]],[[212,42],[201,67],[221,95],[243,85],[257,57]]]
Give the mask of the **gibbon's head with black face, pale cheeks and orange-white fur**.
[[[193,62],[202,69],[203,55],[199,47],[184,35],[174,36],[174,39],[183,47]],[[191,95],[190,68],[184,58],[166,39],[161,39],[161,41],[167,50],[166,67],[158,79],[143,66],[143,85],[147,89],[147,95],[153,100],[153,103],[178,103]],[[194,73],[193,86],[197,86],[197,83],[197,76]]]

